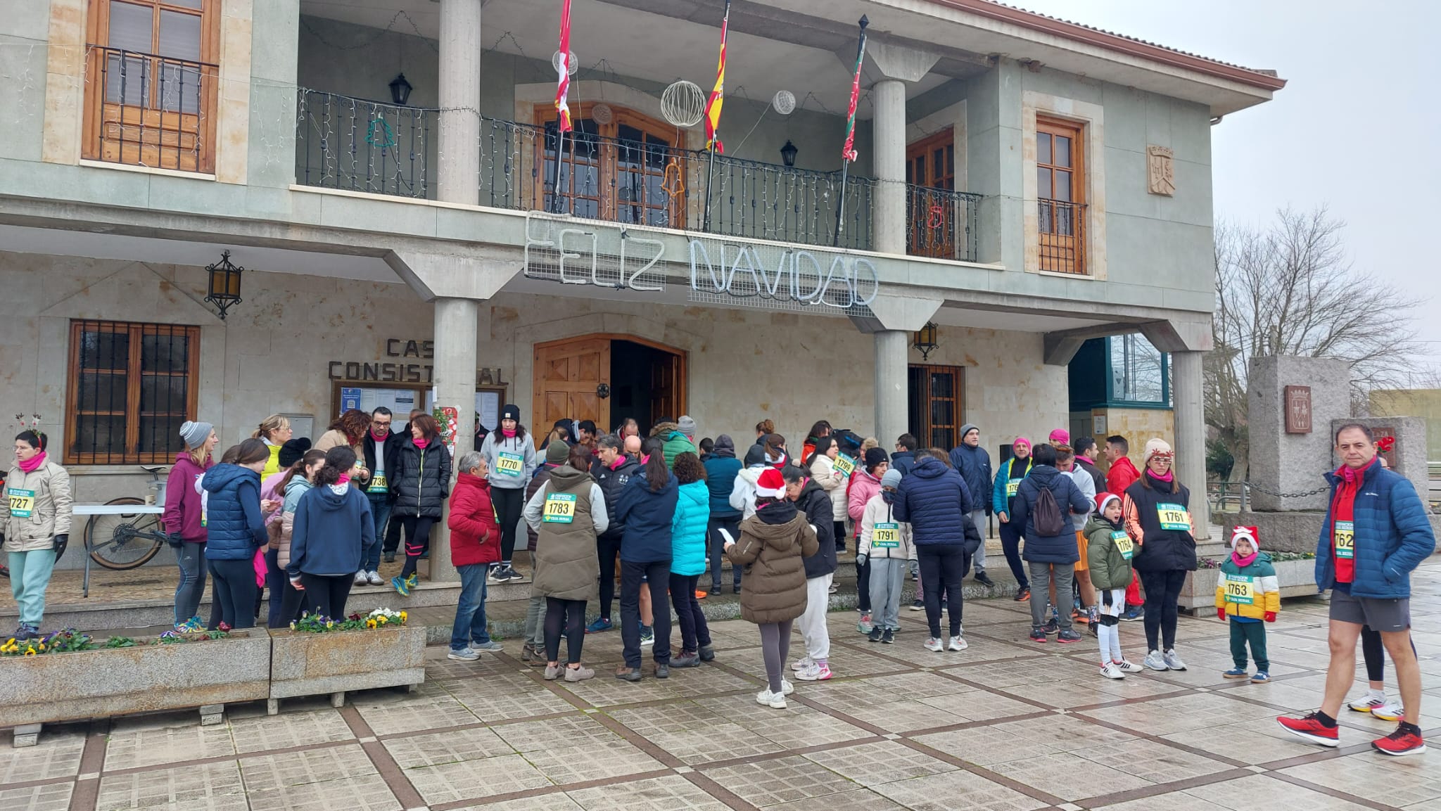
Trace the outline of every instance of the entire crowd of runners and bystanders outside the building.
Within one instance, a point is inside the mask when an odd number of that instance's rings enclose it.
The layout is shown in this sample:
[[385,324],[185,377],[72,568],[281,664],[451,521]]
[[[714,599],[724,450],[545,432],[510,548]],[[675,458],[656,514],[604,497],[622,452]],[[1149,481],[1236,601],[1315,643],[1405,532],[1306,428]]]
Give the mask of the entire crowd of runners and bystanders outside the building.
[[[741,615],[759,631],[768,684],[757,702],[784,707],[790,678],[834,676],[827,609],[837,555],[852,549],[860,634],[898,642],[909,575],[916,581],[911,608],[925,611],[928,625],[921,644],[935,653],[967,650],[961,582],[973,572],[994,585],[984,553],[994,516],[1017,583],[1013,596],[1030,602],[1032,641],[1074,644],[1082,640],[1075,627],[1085,625],[1105,678],[1186,670],[1176,632],[1179,596],[1197,568],[1190,490],[1159,438],[1146,442],[1140,470],[1125,438],[1108,436],[1102,449],[1089,436],[1072,442],[1065,429],[1035,445],[1016,436],[993,468],[976,425],[964,425],[950,451],[922,448],[905,434],[888,454],[876,439],[818,421],[793,454],[762,421],[738,460],[732,436],[697,441],[689,416],[663,418],[644,438],[634,421],[612,434],[591,421],[558,421],[537,445],[520,409],[506,405],[497,429],[454,465],[452,483],[435,418],[412,412],[399,431],[393,422],[385,408],[347,411],[311,447],[275,415],[219,461],[212,460],[213,426],[186,422],[161,516],[179,569],[176,629],[254,627],[267,589],[272,628],[307,612],[342,617],[353,586],[383,585],[379,562],[393,560],[401,536],[405,563],[389,583],[408,596],[431,532],[448,516],[461,579],[448,655],[473,661],[501,650],[487,629],[487,586],[526,579],[513,562],[523,524],[533,572],[520,655],[545,667],[545,678],[592,678],[582,664],[585,637],[617,622],[620,680],[646,677],[644,648],[656,678],[713,660],[699,601],[722,592],[728,560]],[[6,477],[17,640],[40,634],[45,589],[71,529],[69,475],[48,458],[46,444],[35,431],[17,435]],[[1375,742],[1378,750],[1424,750],[1408,578],[1435,540],[1415,488],[1385,468],[1369,429],[1343,426],[1336,448],[1343,464],[1329,474],[1333,496],[1316,572],[1320,588],[1333,591],[1326,696],[1320,710],[1278,720],[1303,739],[1337,745],[1336,714],[1360,640],[1370,690],[1350,709],[1399,722]],[[1105,474],[1097,467],[1102,452]],[[1231,629],[1235,667],[1225,676],[1267,683],[1265,624],[1281,611],[1275,570],[1255,527],[1236,527],[1231,549],[1215,598]],[[208,578],[213,596],[205,622],[199,604]],[[588,622],[592,599],[598,612]],[[672,608],[680,631],[674,655]],[[1118,634],[1118,622],[1136,619],[1144,622],[1141,664],[1127,660]],[[790,661],[794,625],[806,651]],[[1382,651],[1396,667],[1399,704],[1383,691]]]

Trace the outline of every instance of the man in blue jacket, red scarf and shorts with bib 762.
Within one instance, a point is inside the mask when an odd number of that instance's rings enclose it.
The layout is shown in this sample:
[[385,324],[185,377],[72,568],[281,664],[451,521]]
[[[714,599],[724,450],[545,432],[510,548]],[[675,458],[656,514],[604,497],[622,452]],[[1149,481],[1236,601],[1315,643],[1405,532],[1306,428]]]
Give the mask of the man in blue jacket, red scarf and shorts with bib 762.
[[1421,666],[1411,647],[1411,570],[1435,552],[1435,534],[1417,488],[1376,460],[1376,438],[1365,425],[1336,432],[1342,467],[1326,474],[1331,501],[1316,543],[1316,585],[1331,589],[1330,667],[1321,709],[1304,717],[1278,717],[1293,735],[1337,746],[1336,716],[1356,678],[1356,640],[1363,625],[1380,632],[1396,666],[1406,714],[1396,730],[1372,740],[1383,755],[1427,750],[1421,738]]

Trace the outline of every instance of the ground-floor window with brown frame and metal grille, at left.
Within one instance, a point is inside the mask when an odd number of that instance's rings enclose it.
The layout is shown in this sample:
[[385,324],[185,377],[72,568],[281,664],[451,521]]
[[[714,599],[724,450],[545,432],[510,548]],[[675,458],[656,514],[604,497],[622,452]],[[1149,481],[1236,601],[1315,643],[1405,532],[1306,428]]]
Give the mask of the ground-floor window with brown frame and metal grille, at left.
[[199,366],[199,327],[71,321],[66,464],[170,462]]

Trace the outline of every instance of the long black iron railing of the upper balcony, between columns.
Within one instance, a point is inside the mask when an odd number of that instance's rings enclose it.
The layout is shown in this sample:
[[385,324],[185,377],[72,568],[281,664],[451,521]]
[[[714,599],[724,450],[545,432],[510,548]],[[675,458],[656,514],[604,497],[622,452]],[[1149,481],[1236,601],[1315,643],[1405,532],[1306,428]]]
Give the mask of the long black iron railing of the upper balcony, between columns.
[[[303,186],[427,199],[435,194],[441,111],[303,89],[295,180]],[[480,205],[582,219],[872,249],[880,182],[712,156],[650,134],[602,137],[584,124],[480,120]],[[561,156],[559,164],[556,156]],[[980,194],[905,184],[906,249],[976,261]],[[842,205],[844,203],[844,205]],[[839,230],[839,233],[837,233]]]

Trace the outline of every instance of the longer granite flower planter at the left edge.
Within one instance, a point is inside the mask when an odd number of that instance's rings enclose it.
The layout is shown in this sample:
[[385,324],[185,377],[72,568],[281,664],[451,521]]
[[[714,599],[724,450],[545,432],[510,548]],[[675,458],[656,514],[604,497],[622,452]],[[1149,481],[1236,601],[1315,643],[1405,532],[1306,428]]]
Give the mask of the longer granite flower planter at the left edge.
[[223,640],[97,648],[0,658],[0,729],[33,746],[40,725],[157,710],[200,709],[223,720],[225,704],[269,694],[269,637],[232,631]]

